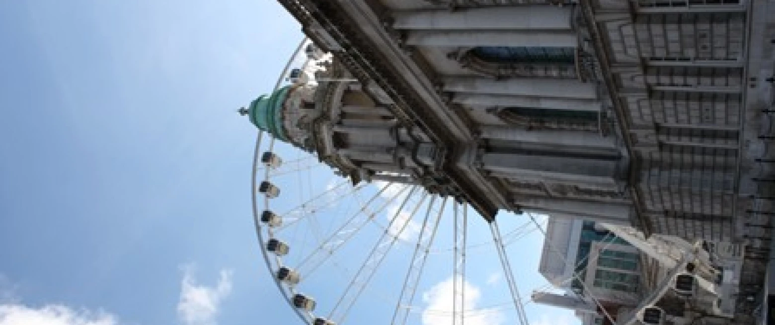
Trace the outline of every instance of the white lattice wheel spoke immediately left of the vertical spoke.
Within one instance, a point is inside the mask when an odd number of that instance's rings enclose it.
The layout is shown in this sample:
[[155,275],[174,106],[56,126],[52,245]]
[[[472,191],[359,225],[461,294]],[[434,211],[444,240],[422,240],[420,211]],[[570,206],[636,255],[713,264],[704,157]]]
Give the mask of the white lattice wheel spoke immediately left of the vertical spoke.
[[[409,316],[409,307],[414,302],[415,295],[417,293],[417,286],[422,278],[422,271],[425,269],[425,261],[428,260],[428,254],[430,252],[429,247],[433,244],[433,240],[436,237],[436,231],[439,230],[439,220],[441,220],[444,206],[446,206],[446,198],[444,198],[439,213],[436,213],[436,218],[430,220],[432,226],[429,228],[429,217],[432,215],[433,203],[436,201],[436,196],[431,198],[431,202],[428,203],[428,211],[425,213],[425,219],[422,221],[422,228],[418,235],[415,251],[412,254],[412,260],[409,261],[409,269],[406,272],[406,278],[404,279],[404,285],[401,287],[401,294],[398,297],[398,303],[396,303],[395,310],[393,312],[393,319],[391,324],[395,324],[396,320],[401,320],[401,324],[405,324]],[[429,233],[430,232],[430,233]],[[425,243],[423,245],[423,243]],[[424,247],[424,250],[421,248]],[[422,251],[422,255],[421,254]]]

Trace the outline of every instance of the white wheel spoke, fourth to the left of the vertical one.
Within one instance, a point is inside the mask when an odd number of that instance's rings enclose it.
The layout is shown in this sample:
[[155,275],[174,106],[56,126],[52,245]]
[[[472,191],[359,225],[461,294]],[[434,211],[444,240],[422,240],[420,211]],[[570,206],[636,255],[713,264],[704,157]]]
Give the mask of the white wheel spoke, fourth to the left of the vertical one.
[[[308,199],[288,212],[281,214],[285,222],[282,226],[278,226],[274,231],[280,232],[282,230],[288,229],[288,227],[293,226],[294,223],[297,223],[299,220],[304,219],[307,216],[312,216],[318,211],[328,208],[329,206],[333,206],[336,203],[341,202],[343,197],[352,195],[353,193],[358,192],[360,189],[364,188],[363,184],[358,184],[352,188],[347,188],[345,185],[348,184],[350,184],[350,180],[347,179],[343,182],[339,182],[332,188],[321,192],[319,195],[315,195],[315,197]],[[301,214],[301,216],[298,216],[299,214]]]

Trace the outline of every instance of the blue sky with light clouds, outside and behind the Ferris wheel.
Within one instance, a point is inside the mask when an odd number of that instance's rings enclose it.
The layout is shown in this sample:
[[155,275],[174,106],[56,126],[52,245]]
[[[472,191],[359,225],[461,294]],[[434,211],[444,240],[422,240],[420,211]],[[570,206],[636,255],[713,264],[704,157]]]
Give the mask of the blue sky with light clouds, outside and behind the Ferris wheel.
[[[257,245],[256,130],[236,109],[271,91],[301,37],[265,0],[0,2],[0,325],[299,323]],[[471,271],[469,299],[503,291],[495,266]],[[447,269],[421,288],[426,309],[446,308]],[[350,323],[370,320],[356,308]],[[495,317],[480,322],[510,316]]]

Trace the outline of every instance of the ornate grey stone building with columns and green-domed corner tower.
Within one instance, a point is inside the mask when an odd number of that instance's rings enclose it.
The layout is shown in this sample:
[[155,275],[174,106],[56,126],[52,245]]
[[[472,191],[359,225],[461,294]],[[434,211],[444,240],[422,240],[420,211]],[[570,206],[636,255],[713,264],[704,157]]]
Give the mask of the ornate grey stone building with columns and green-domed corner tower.
[[739,310],[755,308],[772,0],[279,2],[332,54],[315,76],[331,81],[253,102],[263,130],[353,182],[420,184],[487,221],[535,211],[743,243]]

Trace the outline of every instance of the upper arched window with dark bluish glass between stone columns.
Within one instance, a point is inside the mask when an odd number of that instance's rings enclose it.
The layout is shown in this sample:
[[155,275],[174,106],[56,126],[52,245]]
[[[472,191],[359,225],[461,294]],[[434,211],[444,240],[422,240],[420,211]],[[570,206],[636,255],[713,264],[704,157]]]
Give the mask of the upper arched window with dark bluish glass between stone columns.
[[573,64],[575,47],[474,47],[471,54],[490,63]]

